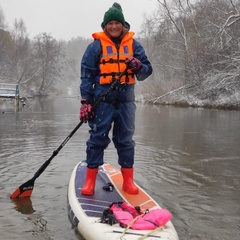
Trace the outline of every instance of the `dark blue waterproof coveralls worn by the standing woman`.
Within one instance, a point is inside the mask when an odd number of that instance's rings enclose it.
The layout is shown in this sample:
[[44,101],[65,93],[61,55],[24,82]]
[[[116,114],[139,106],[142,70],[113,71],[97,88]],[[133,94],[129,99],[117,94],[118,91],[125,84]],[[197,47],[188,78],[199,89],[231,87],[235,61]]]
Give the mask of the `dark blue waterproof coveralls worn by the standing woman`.
[[[136,40],[133,41],[133,52],[133,56],[142,63],[141,71],[136,74],[137,80],[142,81],[151,75],[152,66]],[[97,100],[110,87],[110,84],[99,84],[100,59],[101,43],[95,40],[87,47],[81,62],[80,93],[88,101]],[[116,86],[96,107],[94,118],[88,122],[91,128],[86,149],[88,168],[97,168],[104,163],[104,149],[110,143],[109,132],[112,127],[112,140],[117,149],[119,165],[122,168],[133,167],[135,111],[134,84]]]

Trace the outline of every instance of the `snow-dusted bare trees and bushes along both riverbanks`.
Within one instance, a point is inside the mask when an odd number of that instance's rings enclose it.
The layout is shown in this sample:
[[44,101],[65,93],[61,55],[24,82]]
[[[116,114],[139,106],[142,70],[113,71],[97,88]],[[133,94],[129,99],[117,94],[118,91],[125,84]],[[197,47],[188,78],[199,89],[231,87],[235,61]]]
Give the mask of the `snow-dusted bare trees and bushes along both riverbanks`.
[[[156,0],[141,32],[154,73],[136,86],[152,104],[240,109],[240,1]],[[0,8],[0,76],[26,95],[79,95],[80,60],[92,39],[29,39],[25,23],[5,24]],[[134,29],[133,29],[134,30]]]

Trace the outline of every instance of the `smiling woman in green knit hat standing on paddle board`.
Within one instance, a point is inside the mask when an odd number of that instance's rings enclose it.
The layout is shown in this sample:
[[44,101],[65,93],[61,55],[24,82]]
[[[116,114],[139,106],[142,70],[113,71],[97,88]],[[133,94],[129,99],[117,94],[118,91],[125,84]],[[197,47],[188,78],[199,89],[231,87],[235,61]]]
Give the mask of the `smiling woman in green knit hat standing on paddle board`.
[[[104,163],[104,149],[111,142],[109,132],[112,127],[112,140],[123,176],[122,189],[129,194],[138,194],[133,180],[134,85],[136,79],[143,81],[152,74],[152,66],[144,48],[129,31],[130,25],[125,22],[120,4],[114,3],[105,12],[101,26],[103,31],[92,34],[94,41],[81,61],[80,120],[88,122],[91,129],[86,148],[86,180],[81,194],[94,194],[98,167]],[[119,84],[114,85],[93,109],[94,102],[114,81]]]

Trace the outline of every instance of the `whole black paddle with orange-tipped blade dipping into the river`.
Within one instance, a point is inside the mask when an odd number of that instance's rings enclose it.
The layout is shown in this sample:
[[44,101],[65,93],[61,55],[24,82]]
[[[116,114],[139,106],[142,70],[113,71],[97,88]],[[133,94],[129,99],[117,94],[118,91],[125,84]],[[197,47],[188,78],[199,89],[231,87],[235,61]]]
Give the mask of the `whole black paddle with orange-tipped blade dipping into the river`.
[[[106,95],[112,91],[112,89],[115,87],[115,85],[120,83],[121,77],[127,72],[128,67],[118,76],[118,79],[113,81],[110,85],[110,87],[103,93],[99,99],[93,104],[93,109],[96,108],[96,106],[103,100],[103,98],[106,97]],[[20,187],[18,187],[11,195],[10,198],[23,198],[23,197],[30,197],[33,191],[35,180],[43,173],[43,171],[47,168],[47,166],[50,164],[52,159],[57,156],[59,151],[64,147],[64,145],[70,140],[70,138],[73,136],[73,134],[82,126],[83,122],[79,122],[78,125],[72,130],[72,132],[67,136],[67,138],[62,142],[62,144],[53,152],[52,156],[43,163],[43,165],[37,170],[37,172],[34,174],[34,176],[22,184]]]

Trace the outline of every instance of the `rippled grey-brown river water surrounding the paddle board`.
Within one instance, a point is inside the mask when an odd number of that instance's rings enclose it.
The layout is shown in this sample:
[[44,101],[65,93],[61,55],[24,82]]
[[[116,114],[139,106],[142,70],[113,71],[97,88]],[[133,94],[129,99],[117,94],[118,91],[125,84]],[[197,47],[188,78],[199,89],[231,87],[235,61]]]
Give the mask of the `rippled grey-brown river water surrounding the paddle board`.
[[[36,179],[30,199],[9,198],[78,124],[79,99],[0,110],[0,239],[82,239],[67,216],[67,187],[85,159],[87,124]],[[173,214],[180,240],[240,239],[240,111],[138,104],[135,141],[135,180]],[[105,161],[118,167],[116,159],[111,143]]]

